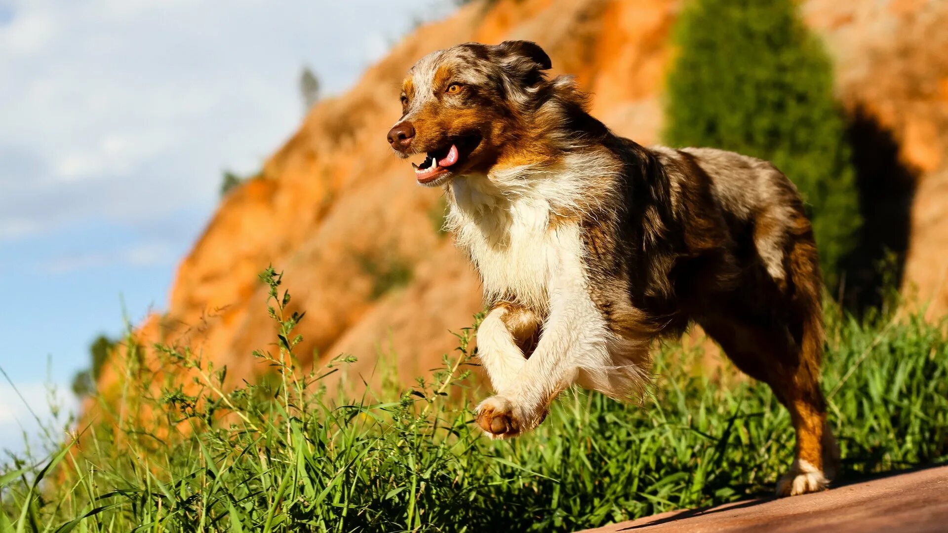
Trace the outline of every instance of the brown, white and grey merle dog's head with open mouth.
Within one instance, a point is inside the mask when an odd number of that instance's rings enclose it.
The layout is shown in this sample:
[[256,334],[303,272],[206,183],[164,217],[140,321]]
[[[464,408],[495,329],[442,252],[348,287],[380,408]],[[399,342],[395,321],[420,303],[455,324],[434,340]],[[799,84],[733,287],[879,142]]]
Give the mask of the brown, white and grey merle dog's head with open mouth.
[[426,153],[415,175],[423,185],[486,173],[520,150],[528,118],[542,100],[550,57],[536,43],[465,43],[432,52],[402,83],[402,117],[388,139],[401,157]]

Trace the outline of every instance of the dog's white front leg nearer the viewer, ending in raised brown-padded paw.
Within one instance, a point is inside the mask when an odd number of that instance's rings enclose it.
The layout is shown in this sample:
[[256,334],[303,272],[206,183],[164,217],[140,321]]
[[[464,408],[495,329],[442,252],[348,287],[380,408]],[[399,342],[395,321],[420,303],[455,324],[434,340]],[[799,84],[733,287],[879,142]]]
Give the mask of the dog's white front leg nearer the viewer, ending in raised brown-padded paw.
[[493,438],[536,428],[584,361],[602,360],[606,350],[604,321],[584,286],[582,271],[564,268],[550,294],[550,314],[533,355],[522,362],[516,377],[503,381],[497,395],[477,408],[478,424]]

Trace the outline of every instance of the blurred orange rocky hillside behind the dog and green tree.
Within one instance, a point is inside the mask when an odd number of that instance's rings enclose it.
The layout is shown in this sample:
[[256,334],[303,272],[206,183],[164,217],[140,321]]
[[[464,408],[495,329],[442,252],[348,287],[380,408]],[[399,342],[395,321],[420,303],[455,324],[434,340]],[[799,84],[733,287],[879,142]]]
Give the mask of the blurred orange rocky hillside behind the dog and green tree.
[[[834,58],[840,101],[870,200],[866,243],[907,252],[903,285],[948,308],[948,5],[892,0],[811,0],[808,24]],[[858,6],[855,4],[859,4]],[[555,74],[576,74],[594,95],[593,114],[640,143],[656,142],[671,0],[472,2],[416,29],[346,94],[319,102],[264,165],[260,178],[225,197],[178,268],[167,311],[140,325],[148,343],[181,341],[228,379],[261,371],[253,349],[273,339],[268,264],[285,272],[291,306],[307,311],[300,354],[358,358],[373,373],[379,353],[397,354],[403,379],[453,350],[457,331],[481,308],[470,267],[438,231],[439,193],[418,187],[384,135],[398,117],[397,82],[416,59],[465,41],[537,41]],[[791,176],[792,177],[792,176]],[[866,245],[866,248],[871,248]],[[872,250],[866,251],[870,253]],[[866,276],[865,267],[854,269]],[[307,361],[303,361],[304,363]],[[102,390],[116,380],[106,367]]]

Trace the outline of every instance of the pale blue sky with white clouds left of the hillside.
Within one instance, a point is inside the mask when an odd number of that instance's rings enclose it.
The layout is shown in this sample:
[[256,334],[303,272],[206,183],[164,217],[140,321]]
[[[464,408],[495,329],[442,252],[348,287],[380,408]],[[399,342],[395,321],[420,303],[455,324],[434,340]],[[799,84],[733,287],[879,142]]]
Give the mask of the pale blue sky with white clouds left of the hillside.
[[303,65],[340,93],[452,8],[0,0],[0,450],[36,434],[27,406],[50,416],[47,383],[75,405],[91,340],[165,307],[223,171],[258,171],[300,123]]

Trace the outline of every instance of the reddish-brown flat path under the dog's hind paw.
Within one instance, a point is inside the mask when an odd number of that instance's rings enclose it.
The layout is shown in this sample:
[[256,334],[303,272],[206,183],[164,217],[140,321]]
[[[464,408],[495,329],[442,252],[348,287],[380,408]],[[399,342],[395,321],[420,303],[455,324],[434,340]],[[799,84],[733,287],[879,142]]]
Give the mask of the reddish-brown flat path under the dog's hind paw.
[[671,511],[586,533],[687,531],[948,532],[948,467],[922,469],[825,492]]

